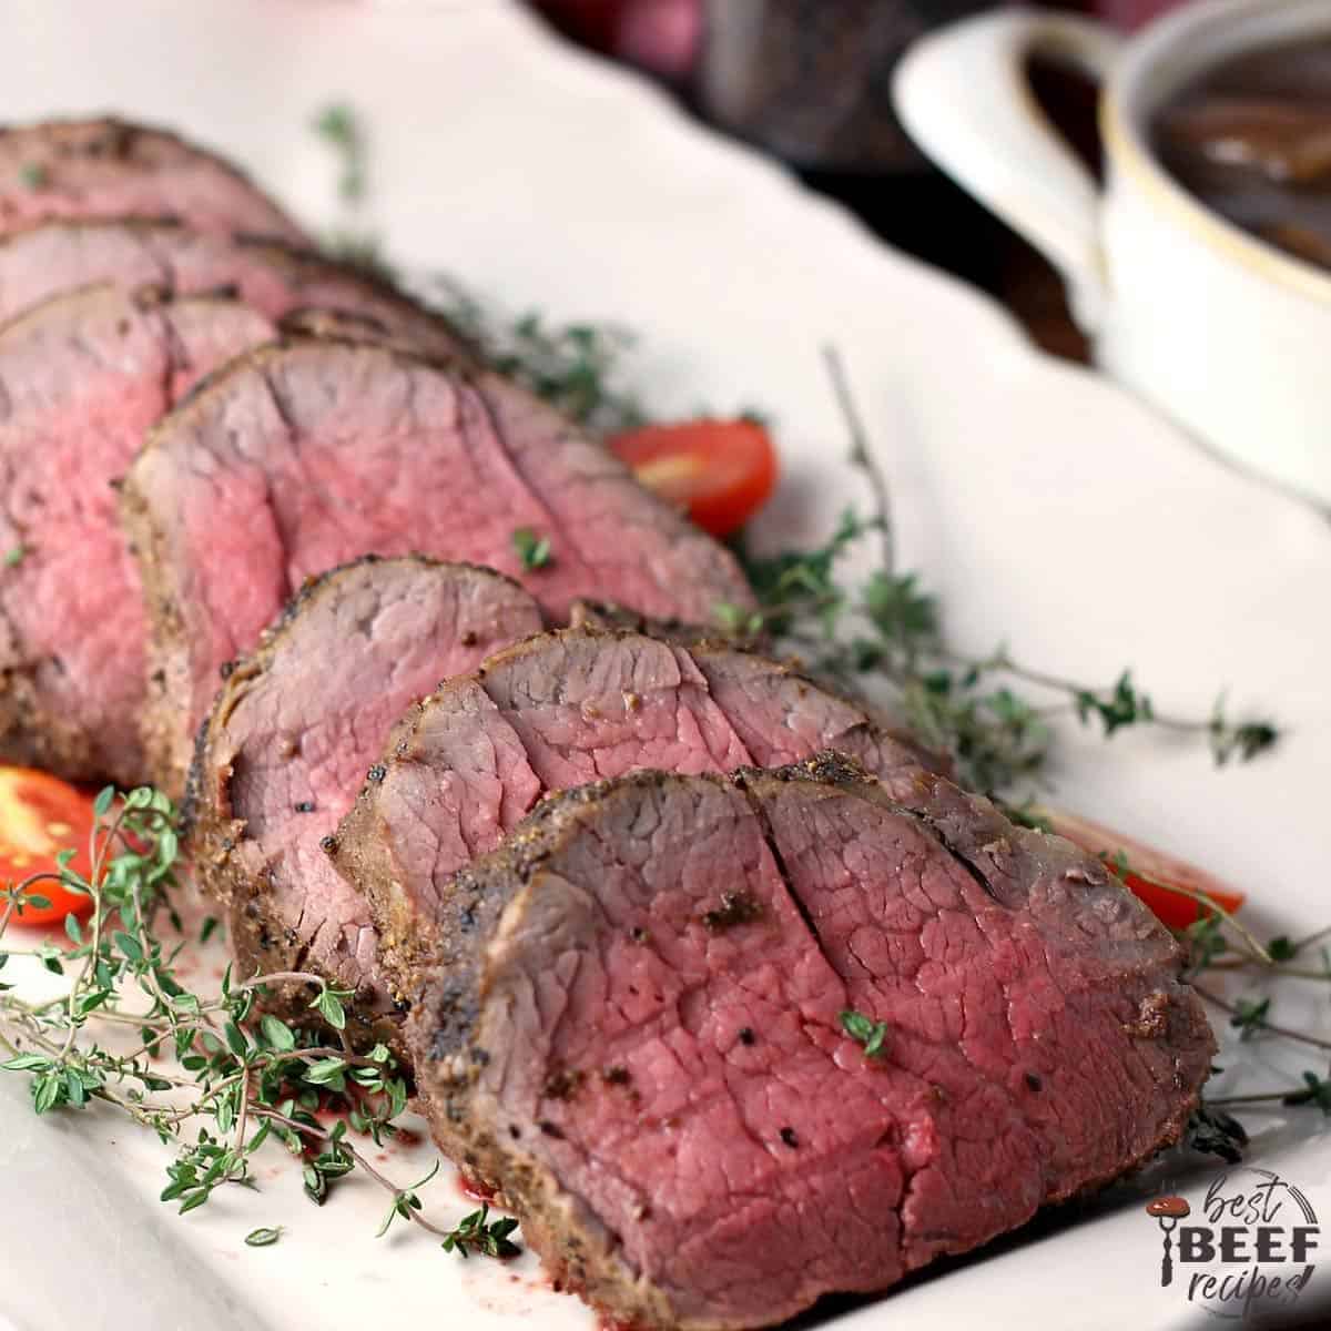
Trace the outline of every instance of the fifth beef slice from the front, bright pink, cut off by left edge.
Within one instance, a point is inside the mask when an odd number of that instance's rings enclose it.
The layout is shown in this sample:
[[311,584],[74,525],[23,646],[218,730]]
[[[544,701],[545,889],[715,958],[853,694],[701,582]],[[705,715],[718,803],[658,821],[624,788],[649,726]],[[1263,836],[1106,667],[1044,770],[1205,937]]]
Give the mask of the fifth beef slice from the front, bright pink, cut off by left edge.
[[110,287],[0,329],[0,759],[144,780],[148,619],[112,487],[200,374],[272,335],[233,301]]

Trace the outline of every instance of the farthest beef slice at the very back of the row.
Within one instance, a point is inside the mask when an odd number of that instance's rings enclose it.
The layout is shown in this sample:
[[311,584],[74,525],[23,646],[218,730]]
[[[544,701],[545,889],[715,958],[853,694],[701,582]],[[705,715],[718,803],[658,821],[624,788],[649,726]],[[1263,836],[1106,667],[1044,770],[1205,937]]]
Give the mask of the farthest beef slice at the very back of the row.
[[113,118],[0,129],[0,233],[52,217],[170,217],[200,232],[305,242],[229,162],[165,129]]

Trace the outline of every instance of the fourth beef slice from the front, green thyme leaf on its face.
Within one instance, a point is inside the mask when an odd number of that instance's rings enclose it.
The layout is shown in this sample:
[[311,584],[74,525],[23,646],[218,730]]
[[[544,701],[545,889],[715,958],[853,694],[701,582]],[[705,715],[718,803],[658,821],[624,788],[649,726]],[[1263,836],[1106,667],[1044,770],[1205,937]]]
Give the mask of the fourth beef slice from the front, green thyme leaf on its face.
[[[731,555],[520,389],[402,351],[294,339],[233,363],[152,431],[124,490],[154,615],[148,741],[168,787],[220,666],[293,587],[421,550],[519,578],[555,619],[598,587],[654,614],[749,603]],[[551,540],[524,567],[514,532]]]

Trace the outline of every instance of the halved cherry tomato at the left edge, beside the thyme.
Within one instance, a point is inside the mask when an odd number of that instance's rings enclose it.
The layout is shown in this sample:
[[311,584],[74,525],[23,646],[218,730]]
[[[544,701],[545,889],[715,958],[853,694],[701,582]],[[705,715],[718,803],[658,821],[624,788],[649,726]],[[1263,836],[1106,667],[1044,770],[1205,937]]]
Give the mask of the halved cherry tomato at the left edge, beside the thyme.
[[[27,767],[0,767],[0,885],[23,882],[35,873],[59,873],[56,856],[73,848],[69,868],[85,878],[92,872],[88,835],[96,823],[92,796],[47,772]],[[92,898],[68,892],[59,882],[37,882],[33,893],[49,906],[23,908],[12,924],[59,924],[67,914],[83,917]]]

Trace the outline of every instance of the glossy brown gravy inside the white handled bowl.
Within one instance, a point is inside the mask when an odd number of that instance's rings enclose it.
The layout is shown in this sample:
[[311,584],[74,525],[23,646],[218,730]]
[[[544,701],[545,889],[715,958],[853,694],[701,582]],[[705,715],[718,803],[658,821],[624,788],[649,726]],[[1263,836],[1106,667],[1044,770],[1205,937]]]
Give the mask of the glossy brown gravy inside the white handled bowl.
[[1165,106],[1151,137],[1207,206],[1331,272],[1331,36],[1214,67]]

